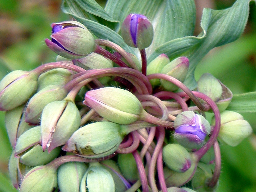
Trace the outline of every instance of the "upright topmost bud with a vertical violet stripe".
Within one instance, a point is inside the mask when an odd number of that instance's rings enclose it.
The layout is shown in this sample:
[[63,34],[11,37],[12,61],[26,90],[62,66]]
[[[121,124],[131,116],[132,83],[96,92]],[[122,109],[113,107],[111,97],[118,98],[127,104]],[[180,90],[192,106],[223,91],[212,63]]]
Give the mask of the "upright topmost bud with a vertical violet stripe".
[[154,36],[151,22],[140,14],[128,15],[122,24],[121,33],[126,44],[140,50],[147,48]]

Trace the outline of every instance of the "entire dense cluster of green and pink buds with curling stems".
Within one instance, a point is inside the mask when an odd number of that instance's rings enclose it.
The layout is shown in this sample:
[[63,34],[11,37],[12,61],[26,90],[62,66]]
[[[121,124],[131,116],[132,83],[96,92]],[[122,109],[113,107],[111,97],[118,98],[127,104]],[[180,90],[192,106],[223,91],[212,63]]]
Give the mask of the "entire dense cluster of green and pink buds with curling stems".
[[[170,61],[163,53],[147,65],[153,27],[146,16],[128,15],[121,32],[143,54],[141,65],[65,21],[52,24],[45,40],[56,62],[0,82],[9,172],[20,192],[213,191],[218,140],[235,146],[252,133],[240,114],[225,110],[232,93],[211,74],[197,91],[182,83],[187,57]],[[211,124],[204,111],[214,114]]]

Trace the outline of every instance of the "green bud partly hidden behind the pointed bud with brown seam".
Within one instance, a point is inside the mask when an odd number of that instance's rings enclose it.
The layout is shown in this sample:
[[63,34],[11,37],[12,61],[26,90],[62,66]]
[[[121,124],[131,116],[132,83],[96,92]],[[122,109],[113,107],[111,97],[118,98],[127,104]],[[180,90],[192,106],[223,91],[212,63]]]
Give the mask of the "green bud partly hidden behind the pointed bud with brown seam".
[[58,85],[49,85],[37,92],[29,101],[26,108],[26,122],[38,124],[44,107],[53,101],[62,100],[66,97],[67,91]]

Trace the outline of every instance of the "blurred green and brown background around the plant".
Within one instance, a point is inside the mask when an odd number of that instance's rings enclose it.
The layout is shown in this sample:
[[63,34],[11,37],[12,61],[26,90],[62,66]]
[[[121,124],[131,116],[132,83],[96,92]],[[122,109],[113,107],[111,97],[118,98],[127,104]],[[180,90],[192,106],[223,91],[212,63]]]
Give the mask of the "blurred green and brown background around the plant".
[[[199,33],[203,7],[223,9],[234,0],[195,0]],[[104,0],[98,1],[104,6]],[[55,60],[44,43],[51,35],[52,22],[70,19],[60,11],[61,0],[0,0],[0,79],[16,69],[31,70]],[[198,64],[196,80],[211,73],[234,93],[256,91],[256,8],[250,3],[250,15],[243,36],[217,47]],[[256,99],[256,98],[255,98]],[[221,145],[222,169],[217,192],[256,192],[256,114],[244,113],[254,134],[236,147]],[[11,146],[0,111],[0,192],[16,191],[8,176]]]

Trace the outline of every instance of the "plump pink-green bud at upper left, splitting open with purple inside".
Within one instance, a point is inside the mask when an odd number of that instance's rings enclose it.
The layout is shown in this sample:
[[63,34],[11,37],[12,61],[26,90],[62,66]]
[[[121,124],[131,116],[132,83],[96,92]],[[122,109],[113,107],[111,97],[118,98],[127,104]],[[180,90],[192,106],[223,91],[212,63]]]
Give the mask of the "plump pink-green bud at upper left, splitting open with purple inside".
[[58,55],[76,59],[95,50],[95,42],[90,31],[77,21],[53,23],[52,41],[45,39],[47,46]]

